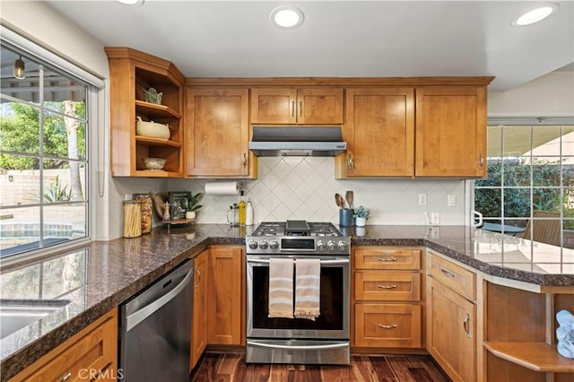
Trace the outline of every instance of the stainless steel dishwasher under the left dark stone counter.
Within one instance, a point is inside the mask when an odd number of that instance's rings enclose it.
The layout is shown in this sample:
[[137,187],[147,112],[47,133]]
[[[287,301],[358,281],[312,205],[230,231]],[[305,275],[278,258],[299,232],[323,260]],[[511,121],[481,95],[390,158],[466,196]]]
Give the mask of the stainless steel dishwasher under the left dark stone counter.
[[120,305],[118,370],[126,382],[189,381],[194,261]]

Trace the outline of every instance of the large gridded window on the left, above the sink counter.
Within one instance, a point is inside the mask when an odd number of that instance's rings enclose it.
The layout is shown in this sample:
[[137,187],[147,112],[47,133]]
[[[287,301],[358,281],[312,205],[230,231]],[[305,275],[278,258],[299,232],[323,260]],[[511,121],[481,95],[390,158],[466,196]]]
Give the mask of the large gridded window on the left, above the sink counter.
[[[89,85],[3,41],[0,257],[89,237]],[[21,73],[16,73],[21,70]]]

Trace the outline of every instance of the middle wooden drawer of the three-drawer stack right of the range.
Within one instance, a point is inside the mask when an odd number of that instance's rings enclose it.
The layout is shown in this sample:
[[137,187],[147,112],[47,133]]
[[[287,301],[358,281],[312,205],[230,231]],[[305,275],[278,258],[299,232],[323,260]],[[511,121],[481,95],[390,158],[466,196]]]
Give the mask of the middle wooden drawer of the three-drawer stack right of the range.
[[421,273],[355,272],[355,300],[420,301]]

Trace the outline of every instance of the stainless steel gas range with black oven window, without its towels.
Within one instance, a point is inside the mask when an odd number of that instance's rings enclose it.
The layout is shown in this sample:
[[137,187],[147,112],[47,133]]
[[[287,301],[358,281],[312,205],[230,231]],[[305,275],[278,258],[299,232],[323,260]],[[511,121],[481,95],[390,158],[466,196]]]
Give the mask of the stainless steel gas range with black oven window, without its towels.
[[[329,222],[262,222],[246,237],[247,362],[349,364],[350,247]],[[268,317],[272,258],[320,260],[319,316]],[[297,293],[297,291],[293,291]]]

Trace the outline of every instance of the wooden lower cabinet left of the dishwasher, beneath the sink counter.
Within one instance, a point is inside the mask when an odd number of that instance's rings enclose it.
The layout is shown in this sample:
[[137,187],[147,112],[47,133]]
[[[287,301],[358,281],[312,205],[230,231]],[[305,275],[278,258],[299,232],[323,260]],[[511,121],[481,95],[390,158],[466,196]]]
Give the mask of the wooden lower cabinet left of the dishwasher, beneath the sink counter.
[[116,381],[117,308],[48,352],[12,381]]

